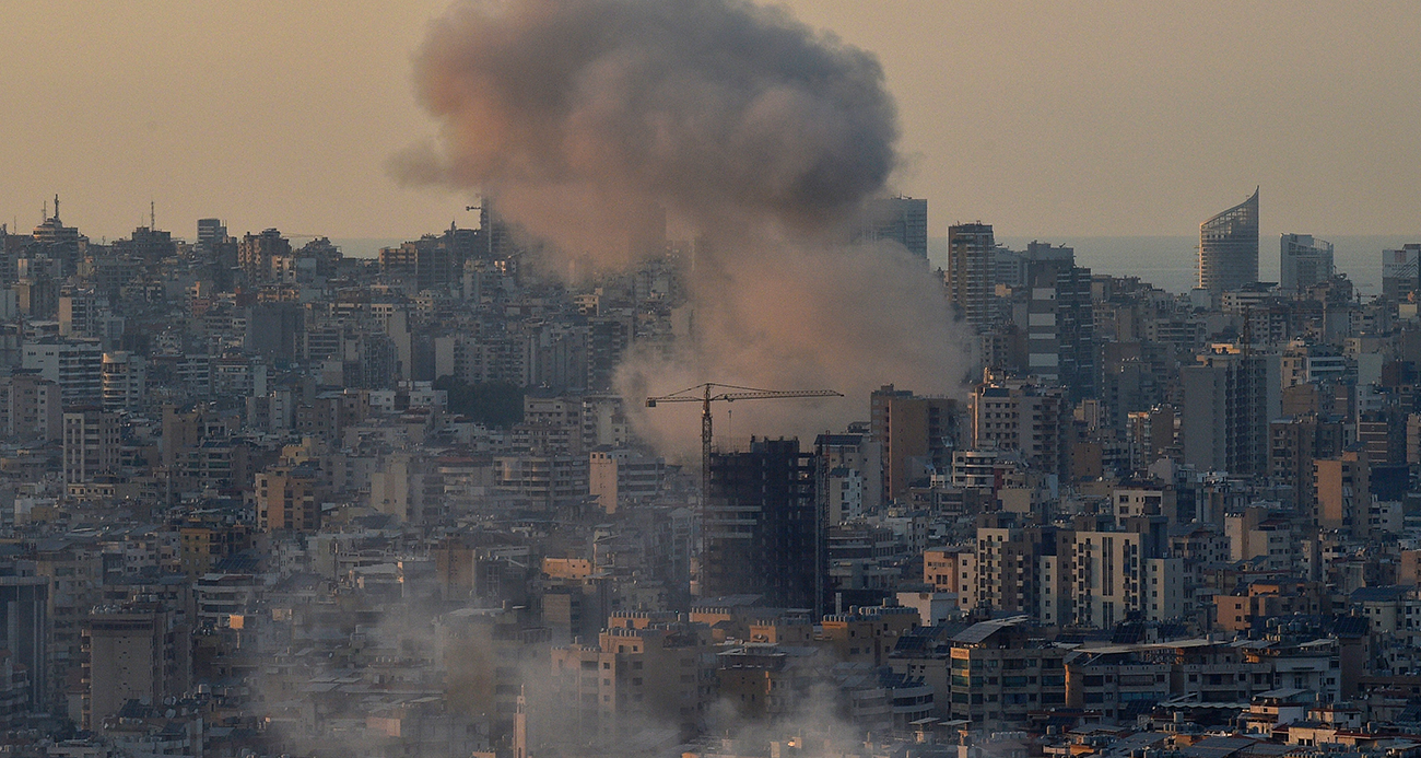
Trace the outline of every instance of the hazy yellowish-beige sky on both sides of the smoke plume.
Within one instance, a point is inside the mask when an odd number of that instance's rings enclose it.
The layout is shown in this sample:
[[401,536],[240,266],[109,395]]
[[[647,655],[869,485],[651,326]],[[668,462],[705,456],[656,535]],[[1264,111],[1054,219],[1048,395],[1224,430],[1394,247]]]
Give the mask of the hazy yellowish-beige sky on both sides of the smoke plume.
[[[409,237],[472,201],[385,172],[433,134],[411,54],[445,1],[7,3],[0,220],[94,239]],[[1262,185],[1263,237],[1421,232],[1421,4],[796,0],[877,53],[894,188],[1003,236],[1192,235]],[[1265,242],[1268,247],[1268,242]]]

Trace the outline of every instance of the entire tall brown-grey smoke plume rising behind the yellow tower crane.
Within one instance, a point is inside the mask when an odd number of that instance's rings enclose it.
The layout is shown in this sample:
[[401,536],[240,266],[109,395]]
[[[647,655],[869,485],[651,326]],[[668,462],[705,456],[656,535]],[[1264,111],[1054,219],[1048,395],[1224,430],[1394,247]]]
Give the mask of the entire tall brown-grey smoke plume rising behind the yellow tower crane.
[[[882,383],[961,384],[941,283],[898,246],[847,245],[897,164],[872,54],[742,0],[509,0],[453,6],[415,68],[441,138],[396,156],[405,181],[492,195],[601,267],[631,263],[627,230],[654,205],[709,240],[689,274],[693,340],[634,351],[630,408],[702,381],[848,395],[735,408],[737,434],[813,435],[865,417]],[[634,418],[682,449],[686,421]]]

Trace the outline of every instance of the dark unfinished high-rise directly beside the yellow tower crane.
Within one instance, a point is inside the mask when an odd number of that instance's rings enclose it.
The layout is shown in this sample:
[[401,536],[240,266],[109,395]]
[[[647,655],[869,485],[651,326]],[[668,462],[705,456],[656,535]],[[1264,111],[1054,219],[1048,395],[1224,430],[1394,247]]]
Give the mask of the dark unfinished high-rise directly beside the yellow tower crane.
[[814,609],[824,576],[816,462],[799,439],[750,439],[710,454],[701,594],[759,594],[769,606]]

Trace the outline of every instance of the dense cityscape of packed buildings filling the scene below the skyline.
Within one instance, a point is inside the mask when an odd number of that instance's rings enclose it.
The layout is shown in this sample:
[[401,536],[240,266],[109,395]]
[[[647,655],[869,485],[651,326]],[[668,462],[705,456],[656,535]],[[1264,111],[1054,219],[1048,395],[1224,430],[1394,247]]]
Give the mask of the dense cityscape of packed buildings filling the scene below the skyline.
[[617,371],[693,338],[698,243],[567,284],[493,208],[378,259],[0,230],[6,751],[1421,751],[1421,245],[1258,282],[1255,192],[1168,293],[982,222],[934,273],[872,201],[976,378],[668,462]]

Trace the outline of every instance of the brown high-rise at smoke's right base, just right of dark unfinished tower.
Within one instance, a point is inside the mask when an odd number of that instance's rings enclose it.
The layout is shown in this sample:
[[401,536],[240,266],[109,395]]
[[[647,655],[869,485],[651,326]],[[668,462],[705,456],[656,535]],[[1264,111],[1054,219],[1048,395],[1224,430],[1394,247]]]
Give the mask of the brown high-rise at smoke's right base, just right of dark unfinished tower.
[[952,449],[958,447],[958,401],[945,397],[919,397],[911,390],[885,384],[870,395],[870,425],[882,449],[882,475],[871,476],[881,502],[908,495],[914,479],[952,469]]

